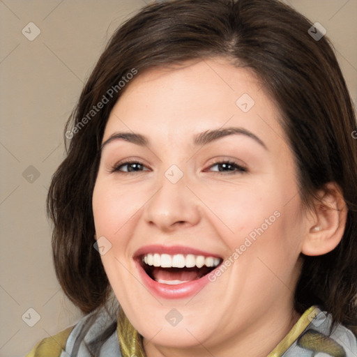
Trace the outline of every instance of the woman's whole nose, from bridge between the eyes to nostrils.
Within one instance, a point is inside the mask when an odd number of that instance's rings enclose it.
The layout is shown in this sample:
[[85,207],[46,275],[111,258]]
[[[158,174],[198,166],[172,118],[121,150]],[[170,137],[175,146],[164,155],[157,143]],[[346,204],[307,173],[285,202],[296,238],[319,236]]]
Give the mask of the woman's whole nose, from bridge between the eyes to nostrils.
[[195,225],[199,220],[198,200],[186,187],[188,173],[180,166],[173,164],[158,174],[158,190],[146,205],[146,220],[161,229],[169,229],[177,222]]

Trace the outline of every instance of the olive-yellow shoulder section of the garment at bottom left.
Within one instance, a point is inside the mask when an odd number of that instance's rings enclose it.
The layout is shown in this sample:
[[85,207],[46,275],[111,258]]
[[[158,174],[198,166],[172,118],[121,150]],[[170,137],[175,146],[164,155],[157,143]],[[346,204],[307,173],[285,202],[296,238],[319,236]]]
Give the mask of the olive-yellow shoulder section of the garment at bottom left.
[[44,338],[26,354],[26,357],[58,357],[61,351],[66,349],[68,336],[74,327],[70,326],[56,335]]

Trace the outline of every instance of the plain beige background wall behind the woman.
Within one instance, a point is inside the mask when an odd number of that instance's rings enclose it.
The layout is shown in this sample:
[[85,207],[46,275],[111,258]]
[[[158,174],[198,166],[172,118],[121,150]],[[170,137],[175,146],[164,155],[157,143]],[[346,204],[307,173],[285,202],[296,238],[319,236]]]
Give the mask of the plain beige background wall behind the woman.
[[[285,1],[326,28],[356,102],[357,0]],[[24,356],[80,316],[54,275],[47,188],[85,79],[114,29],[145,3],[0,0],[0,356]],[[22,34],[29,22],[40,29],[33,41]],[[33,327],[29,308],[40,316]]]

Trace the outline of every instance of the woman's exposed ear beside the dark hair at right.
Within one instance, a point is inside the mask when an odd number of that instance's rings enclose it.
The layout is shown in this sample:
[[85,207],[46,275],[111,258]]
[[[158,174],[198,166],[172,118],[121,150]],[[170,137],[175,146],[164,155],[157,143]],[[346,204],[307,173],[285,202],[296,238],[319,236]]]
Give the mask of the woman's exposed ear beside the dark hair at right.
[[347,221],[347,205],[337,183],[327,183],[318,192],[307,234],[301,252],[305,255],[324,255],[335,249],[344,234]]

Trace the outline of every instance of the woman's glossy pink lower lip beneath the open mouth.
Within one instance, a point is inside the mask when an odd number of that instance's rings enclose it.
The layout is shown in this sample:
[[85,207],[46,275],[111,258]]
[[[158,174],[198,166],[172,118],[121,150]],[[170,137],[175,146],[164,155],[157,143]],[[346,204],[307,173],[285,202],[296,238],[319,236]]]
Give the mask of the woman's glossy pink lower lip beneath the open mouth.
[[208,280],[208,274],[206,274],[202,278],[192,280],[191,282],[183,282],[182,284],[176,285],[161,284],[146,274],[139,261],[135,261],[135,264],[137,264],[139,274],[145,286],[148,287],[153,294],[161,298],[189,298],[190,296],[196,295],[210,282],[210,280]]

